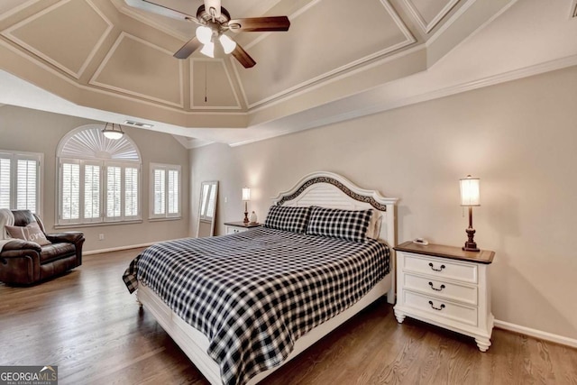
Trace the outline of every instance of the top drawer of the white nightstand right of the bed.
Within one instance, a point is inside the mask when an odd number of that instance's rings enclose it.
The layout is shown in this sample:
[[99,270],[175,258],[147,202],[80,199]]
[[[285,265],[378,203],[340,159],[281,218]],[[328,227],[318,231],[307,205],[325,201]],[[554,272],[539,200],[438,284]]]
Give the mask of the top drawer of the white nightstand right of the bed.
[[477,283],[477,264],[404,253],[405,271],[413,271],[437,279]]

